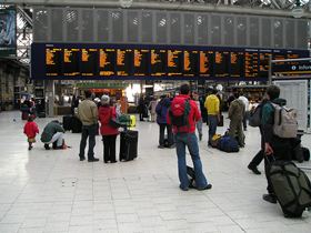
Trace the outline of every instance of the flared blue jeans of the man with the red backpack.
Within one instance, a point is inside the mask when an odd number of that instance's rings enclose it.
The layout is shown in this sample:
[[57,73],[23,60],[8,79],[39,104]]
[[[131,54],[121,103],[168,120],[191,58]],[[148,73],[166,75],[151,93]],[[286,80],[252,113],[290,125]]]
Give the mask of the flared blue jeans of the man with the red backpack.
[[195,172],[195,186],[203,189],[208,185],[208,181],[202,171],[202,163],[199,154],[198,138],[195,133],[177,133],[175,134],[175,151],[178,158],[178,175],[181,189],[188,189],[190,181],[187,175],[185,162],[185,145],[190,152],[193,169]]

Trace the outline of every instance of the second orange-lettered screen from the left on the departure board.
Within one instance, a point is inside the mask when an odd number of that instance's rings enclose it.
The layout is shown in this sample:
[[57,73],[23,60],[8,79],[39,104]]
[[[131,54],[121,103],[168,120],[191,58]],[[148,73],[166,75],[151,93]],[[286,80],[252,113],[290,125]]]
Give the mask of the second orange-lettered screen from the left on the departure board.
[[63,50],[63,63],[62,72],[66,77],[79,75],[79,49],[64,49]]

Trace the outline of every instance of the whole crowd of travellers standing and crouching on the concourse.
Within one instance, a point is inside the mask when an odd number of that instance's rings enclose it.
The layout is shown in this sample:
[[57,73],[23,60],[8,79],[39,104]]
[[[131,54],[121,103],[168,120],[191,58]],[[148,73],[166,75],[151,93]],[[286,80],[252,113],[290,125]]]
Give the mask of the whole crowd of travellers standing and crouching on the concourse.
[[[267,89],[264,100],[260,103],[262,105],[262,118],[259,126],[261,133],[261,148],[250,162],[248,168],[255,174],[261,172],[258,165],[264,160],[265,173],[272,160],[291,160],[289,140],[282,139],[273,133],[273,115],[274,109],[271,103],[284,105],[285,100],[279,99],[280,89],[277,85],[270,85]],[[202,103],[203,102],[203,103]],[[80,161],[86,160],[86,146],[88,148],[88,161],[97,162],[98,158],[94,156],[96,135],[100,131],[103,142],[103,162],[116,163],[116,140],[119,134],[118,128],[111,124],[112,120],[118,119],[118,108],[111,104],[109,95],[102,95],[100,103],[92,100],[90,91],[84,92],[84,100],[77,104],[76,114],[82,122],[82,133],[80,141]],[[200,160],[199,141],[202,140],[202,123],[203,120],[209,125],[208,131],[208,145],[211,145],[213,136],[217,134],[217,126],[221,121],[221,99],[217,90],[210,90],[205,100],[200,98],[197,92],[192,92],[188,84],[180,87],[180,93],[174,98],[161,95],[157,101],[154,98],[150,100],[148,105],[144,100],[139,102],[140,120],[147,116],[150,112],[150,121],[159,124],[159,149],[175,148],[178,158],[178,175],[180,180],[180,189],[188,191],[189,189],[209,190],[212,184],[207,180],[202,163]],[[203,119],[207,115],[207,119]],[[235,93],[229,105],[228,118],[230,125],[228,134],[237,139],[239,146],[245,145],[244,133],[247,130],[247,119],[249,115],[249,101],[242,93]],[[203,116],[203,118],[202,118]],[[100,123],[100,124],[99,124]],[[100,126],[99,126],[100,125]],[[198,136],[195,131],[198,130]],[[36,135],[39,133],[39,128],[33,121],[33,116],[28,118],[24,125],[24,134],[28,138],[29,150],[32,149],[32,143],[36,142]],[[198,139],[199,138],[199,139]],[[41,141],[44,148],[50,150],[52,148],[66,149],[64,143],[64,129],[58,121],[51,121],[46,125],[41,134]],[[191,183],[187,173],[185,148],[188,148],[194,169],[195,183]],[[273,156],[272,156],[273,155]],[[271,181],[267,174],[268,194],[263,195],[263,200],[277,203],[277,197],[271,186]]]

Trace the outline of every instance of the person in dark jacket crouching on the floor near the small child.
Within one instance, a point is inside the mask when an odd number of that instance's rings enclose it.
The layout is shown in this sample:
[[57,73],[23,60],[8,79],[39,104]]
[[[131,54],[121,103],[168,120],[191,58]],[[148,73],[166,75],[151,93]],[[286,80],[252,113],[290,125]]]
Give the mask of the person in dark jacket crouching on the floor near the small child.
[[50,150],[50,143],[53,149],[66,149],[64,144],[64,129],[59,121],[54,120],[48,123],[41,134],[41,142],[44,143],[46,150]]

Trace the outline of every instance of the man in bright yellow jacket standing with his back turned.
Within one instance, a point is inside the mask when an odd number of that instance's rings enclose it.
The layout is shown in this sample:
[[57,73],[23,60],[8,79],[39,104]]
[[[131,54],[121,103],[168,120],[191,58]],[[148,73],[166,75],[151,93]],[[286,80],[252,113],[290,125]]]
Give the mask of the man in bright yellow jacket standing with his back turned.
[[208,111],[209,145],[211,144],[212,136],[215,134],[217,124],[220,118],[219,115],[220,101],[215,94],[217,94],[217,90],[212,90],[211,94],[207,97],[204,103],[204,107]]

